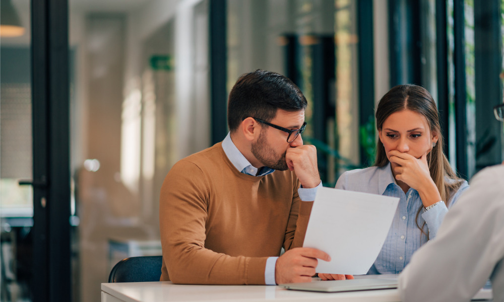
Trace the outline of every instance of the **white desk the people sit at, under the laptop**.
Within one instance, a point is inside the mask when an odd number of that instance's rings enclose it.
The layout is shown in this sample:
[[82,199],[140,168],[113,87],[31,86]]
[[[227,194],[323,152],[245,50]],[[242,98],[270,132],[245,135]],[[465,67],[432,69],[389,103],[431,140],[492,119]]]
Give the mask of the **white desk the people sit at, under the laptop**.
[[102,283],[102,302],[178,301],[366,301],[399,302],[397,289],[310,292],[272,285],[177,285],[171,282]]

